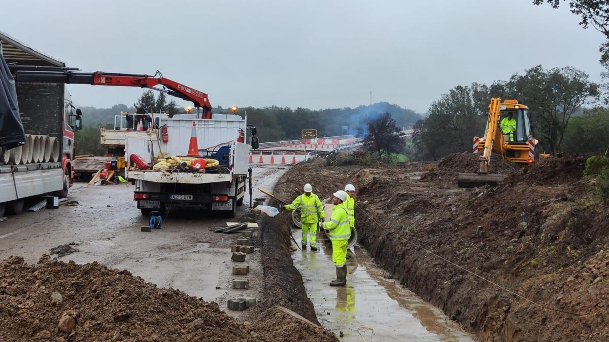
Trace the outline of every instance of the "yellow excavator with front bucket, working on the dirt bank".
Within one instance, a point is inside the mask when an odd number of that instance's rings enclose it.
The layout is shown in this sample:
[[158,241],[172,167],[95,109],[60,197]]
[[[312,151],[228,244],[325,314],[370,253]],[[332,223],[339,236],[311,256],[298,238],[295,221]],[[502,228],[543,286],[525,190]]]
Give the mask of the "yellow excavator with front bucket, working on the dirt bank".
[[[515,129],[504,134],[501,120],[511,114],[516,120]],[[538,140],[533,138],[529,107],[518,103],[518,100],[504,100],[493,97],[488,106],[487,127],[483,137],[474,137],[473,152],[480,155],[480,167],[477,173],[458,173],[459,187],[477,187],[496,185],[507,175],[488,173],[491,153],[499,153],[507,161],[519,164],[533,164],[535,161],[535,145]]]

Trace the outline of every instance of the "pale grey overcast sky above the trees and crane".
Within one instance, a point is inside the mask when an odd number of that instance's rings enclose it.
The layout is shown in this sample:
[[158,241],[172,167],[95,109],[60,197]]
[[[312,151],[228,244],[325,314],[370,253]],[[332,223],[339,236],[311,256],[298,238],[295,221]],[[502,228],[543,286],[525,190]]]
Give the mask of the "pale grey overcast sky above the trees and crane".
[[[425,112],[456,85],[541,64],[600,80],[603,37],[532,0],[10,1],[0,30],[83,71],[154,74],[214,106]],[[12,13],[7,15],[6,13]],[[80,105],[132,105],[139,88],[70,85]],[[186,102],[178,101],[180,105]]]

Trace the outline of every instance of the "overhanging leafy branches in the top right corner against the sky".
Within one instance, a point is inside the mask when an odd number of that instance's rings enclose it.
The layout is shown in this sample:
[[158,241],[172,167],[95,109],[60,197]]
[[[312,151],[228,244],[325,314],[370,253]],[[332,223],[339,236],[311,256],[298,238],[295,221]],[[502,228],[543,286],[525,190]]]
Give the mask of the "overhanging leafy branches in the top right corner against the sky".
[[[533,0],[533,4],[541,5],[544,2],[552,5],[555,9],[560,6],[561,0]],[[562,0],[565,2],[565,0]],[[600,65],[604,66],[605,71],[602,77],[609,80],[609,1],[607,0],[569,0],[571,13],[579,15],[582,21],[580,26],[584,29],[592,26],[594,29],[605,35],[605,42],[600,45]],[[609,103],[609,82],[604,83],[605,103]]]

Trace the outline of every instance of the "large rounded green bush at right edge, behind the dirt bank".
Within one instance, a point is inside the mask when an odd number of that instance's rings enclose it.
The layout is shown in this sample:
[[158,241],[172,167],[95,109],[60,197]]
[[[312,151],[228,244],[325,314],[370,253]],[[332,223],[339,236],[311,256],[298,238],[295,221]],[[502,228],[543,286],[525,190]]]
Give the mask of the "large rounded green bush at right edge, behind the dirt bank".
[[569,121],[561,150],[569,153],[600,154],[608,149],[609,108],[596,107]]

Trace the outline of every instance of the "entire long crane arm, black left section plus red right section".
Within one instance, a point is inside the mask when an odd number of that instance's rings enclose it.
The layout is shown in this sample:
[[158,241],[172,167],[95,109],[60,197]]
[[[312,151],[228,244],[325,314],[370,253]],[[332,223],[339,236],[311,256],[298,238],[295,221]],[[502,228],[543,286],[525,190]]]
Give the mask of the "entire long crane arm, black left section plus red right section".
[[[211,104],[205,92],[190,88],[174,80],[166,79],[160,72],[154,76],[139,74],[114,74],[109,72],[81,72],[75,68],[9,66],[15,82],[72,83],[103,86],[137,86],[163,91],[171,96],[192,101],[195,108],[202,108],[202,119],[211,119]],[[160,75],[160,77],[155,77]],[[157,88],[163,86],[164,89]]]

